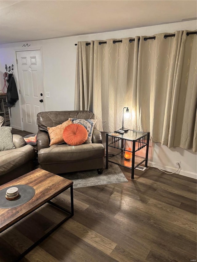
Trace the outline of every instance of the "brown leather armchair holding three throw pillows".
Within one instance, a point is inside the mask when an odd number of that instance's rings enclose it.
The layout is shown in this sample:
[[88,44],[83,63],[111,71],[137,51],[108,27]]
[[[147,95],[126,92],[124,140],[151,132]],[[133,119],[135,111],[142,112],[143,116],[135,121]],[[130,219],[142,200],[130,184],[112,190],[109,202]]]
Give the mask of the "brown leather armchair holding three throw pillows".
[[79,146],[67,144],[49,146],[50,138],[47,127],[55,127],[69,118],[94,119],[90,111],[48,111],[37,115],[38,163],[40,167],[54,174],[81,170],[97,169],[103,172],[105,147],[102,144],[101,132],[93,130],[92,143]]

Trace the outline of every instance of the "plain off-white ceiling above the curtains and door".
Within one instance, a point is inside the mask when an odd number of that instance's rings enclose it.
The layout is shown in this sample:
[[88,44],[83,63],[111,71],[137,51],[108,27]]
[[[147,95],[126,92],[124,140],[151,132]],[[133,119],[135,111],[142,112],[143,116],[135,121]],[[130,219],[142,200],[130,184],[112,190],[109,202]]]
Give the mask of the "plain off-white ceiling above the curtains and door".
[[196,10],[190,0],[0,0],[0,43],[193,20]]

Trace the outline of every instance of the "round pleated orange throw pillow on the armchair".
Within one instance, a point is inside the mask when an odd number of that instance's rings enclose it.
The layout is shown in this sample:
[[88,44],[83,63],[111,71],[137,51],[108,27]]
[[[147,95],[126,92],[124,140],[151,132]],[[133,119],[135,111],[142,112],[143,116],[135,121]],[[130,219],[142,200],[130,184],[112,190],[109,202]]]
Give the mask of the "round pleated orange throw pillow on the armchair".
[[70,124],[64,128],[63,139],[70,146],[78,146],[86,142],[87,129],[80,124]]

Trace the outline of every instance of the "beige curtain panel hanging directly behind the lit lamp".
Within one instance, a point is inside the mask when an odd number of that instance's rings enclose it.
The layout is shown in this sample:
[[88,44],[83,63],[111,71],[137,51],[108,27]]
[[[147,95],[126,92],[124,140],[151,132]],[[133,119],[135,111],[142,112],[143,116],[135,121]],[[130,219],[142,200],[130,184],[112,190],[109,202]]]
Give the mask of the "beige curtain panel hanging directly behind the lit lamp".
[[[132,42],[124,38],[115,44],[117,39],[108,39],[101,45],[94,41],[93,112],[100,131],[122,127],[123,107],[136,110],[138,38]],[[125,125],[136,129],[136,116],[131,117]]]

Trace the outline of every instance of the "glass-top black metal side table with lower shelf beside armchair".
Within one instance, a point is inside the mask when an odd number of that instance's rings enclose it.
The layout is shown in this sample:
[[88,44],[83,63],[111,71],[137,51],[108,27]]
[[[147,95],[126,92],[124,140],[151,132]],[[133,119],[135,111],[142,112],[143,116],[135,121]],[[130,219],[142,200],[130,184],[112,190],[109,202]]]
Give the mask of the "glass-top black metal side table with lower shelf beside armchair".
[[[106,134],[106,169],[108,162],[118,164],[120,166],[131,169],[131,178],[134,178],[134,170],[136,167],[145,162],[145,167],[148,164],[148,147],[149,147],[150,132],[140,132],[129,130],[123,134],[117,132]],[[126,143],[131,141],[131,150],[128,150]],[[109,157],[109,147],[119,150],[119,153]],[[145,157],[137,156],[135,153],[146,147]],[[132,153],[131,159],[125,158],[125,152]]]

